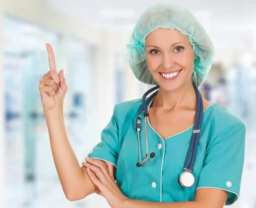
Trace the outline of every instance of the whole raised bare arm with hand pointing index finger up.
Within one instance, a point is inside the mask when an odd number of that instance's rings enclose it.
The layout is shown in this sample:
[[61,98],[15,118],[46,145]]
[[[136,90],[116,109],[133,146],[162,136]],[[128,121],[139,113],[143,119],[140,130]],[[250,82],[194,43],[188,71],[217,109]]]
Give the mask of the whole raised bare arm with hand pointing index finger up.
[[70,201],[83,199],[99,191],[90,180],[84,166],[79,166],[67,137],[63,103],[68,86],[64,70],[57,71],[52,46],[46,44],[50,71],[40,80],[39,91],[49,131],[52,156],[65,196]]

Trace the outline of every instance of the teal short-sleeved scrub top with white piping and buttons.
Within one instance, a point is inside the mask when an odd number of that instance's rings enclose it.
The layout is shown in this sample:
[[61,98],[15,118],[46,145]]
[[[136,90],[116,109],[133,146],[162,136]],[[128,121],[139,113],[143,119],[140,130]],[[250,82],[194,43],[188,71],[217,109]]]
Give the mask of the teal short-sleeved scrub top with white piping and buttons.
[[[151,105],[148,103],[148,108]],[[116,166],[116,183],[130,199],[152,202],[193,201],[198,188],[229,191],[225,205],[239,197],[244,165],[245,125],[224,107],[212,103],[204,110],[198,149],[193,168],[195,183],[184,188],[178,183],[183,172],[193,126],[163,140],[148,123],[148,153],[155,157],[146,166],[140,162],[136,131],[141,99],[118,103],[103,129],[101,142],[88,157]],[[141,151],[145,155],[145,120],[141,119]],[[150,114],[149,114],[150,117]],[[149,158],[149,156],[148,156]],[[148,159],[147,158],[147,159]]]

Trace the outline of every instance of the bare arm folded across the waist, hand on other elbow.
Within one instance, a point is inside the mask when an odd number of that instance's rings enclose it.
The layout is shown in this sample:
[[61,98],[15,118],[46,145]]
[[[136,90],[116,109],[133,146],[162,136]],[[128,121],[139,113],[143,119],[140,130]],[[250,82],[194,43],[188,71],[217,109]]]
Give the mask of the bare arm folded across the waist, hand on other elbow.
[[99,160],[85,158],[82,162],[92,182],[98,186],[102,197],[107,199],[111,208],[223,208],[228,191],[217,188],[198,188],[194,201],[187,202],[149,202],[129,199],[119,190],[113,176],[108,174],[105,165]]

